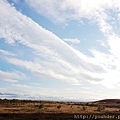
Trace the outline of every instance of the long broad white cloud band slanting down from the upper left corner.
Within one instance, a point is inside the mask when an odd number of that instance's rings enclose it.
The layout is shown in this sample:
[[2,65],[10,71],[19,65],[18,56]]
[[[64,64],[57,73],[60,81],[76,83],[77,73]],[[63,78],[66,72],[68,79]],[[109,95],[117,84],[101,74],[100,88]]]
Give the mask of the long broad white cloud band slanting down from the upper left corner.
[[[27,16],[17,12],[7,2],[0,1],[0,3],[2,11],[0,12],[0,37],[4,38],[8,44],[16,44],[18,41],[38,55],[38,62],[6,58],[9,63],[24,67],[33,73],[44,74],[47,77],[74,84],[79,84],[80,78],[102,80],[99,76],[97,77],[96,71],[99,69],[104,72],[100,66],[89,63],[81,52],[73,49]],[[41,56],[44,61],[39,58]]]

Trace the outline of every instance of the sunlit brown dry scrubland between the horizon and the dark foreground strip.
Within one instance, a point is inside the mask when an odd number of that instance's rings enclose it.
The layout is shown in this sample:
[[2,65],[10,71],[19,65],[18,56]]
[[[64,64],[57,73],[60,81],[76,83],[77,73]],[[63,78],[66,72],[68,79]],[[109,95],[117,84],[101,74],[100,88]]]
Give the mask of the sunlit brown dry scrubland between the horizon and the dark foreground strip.
[[4,119],[3,114],[73,115],[73,114],[103,114],[103,113],[117,114],[119,112],[120,112],[119,101],[111,102],[109,100],[106,100],[96,102],[54,102],[54,101],[0,99],[0,120],[1,116]]

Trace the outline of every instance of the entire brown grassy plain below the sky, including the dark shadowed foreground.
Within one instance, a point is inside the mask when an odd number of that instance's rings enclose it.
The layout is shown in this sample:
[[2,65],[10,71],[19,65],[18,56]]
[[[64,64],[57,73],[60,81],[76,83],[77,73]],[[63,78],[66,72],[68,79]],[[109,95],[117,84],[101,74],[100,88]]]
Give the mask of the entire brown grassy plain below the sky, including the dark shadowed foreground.
[[54,102],[0,99],[0,120],[101,120],[103,117],[117,120],[119,114],[120,100]]

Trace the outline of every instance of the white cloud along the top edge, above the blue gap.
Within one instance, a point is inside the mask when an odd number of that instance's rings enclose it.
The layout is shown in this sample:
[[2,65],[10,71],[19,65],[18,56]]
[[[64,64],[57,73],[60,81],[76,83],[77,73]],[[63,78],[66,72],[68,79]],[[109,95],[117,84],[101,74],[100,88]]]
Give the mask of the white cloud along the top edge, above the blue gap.
[[27,0],[31,7],[38,13],[52,20],[53,22],[65,22],[71,19],[89,18],[94,19],[97,16],[108,17],[104,14],[107,9],[114,9],[113,5],[119,8],[119,0]]

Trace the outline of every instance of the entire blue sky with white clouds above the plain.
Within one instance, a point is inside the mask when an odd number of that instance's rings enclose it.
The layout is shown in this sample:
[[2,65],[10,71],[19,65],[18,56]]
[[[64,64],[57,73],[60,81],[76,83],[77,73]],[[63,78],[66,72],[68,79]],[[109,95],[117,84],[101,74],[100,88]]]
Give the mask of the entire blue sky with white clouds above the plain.
[[0,98],[120,98],[119,0],[0,0]]

